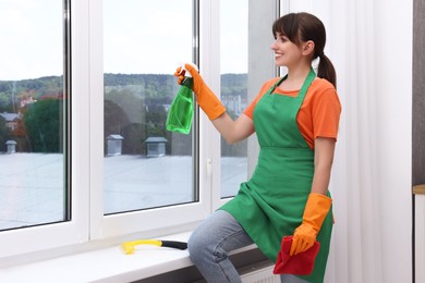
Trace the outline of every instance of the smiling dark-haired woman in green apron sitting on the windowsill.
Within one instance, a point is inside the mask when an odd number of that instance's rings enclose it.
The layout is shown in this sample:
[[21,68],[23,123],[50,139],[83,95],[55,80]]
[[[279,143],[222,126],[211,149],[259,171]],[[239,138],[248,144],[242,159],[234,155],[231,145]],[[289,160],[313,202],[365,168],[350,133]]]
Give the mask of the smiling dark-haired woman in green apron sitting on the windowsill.
[[[324,54],[326,32],[308,13],[291,13],[272,26],[278,66],[288,74],[266,82],[244,113],[233,121],[194,66],[201,108],[229,144],[257,135],[260,152],[250,181],[192,234],[192,261],[208,282],[240,282],[230,250],[255,243],[274,262],[283,236],[293,235],[290,255],[320,249],[309,275],[282,274],[287,282],[323,282],[332,230],[328,192],[341,112],[336,73]],[[319,59],[317,76],[312,62]],[[177,74],[181,82],[184,71]]]

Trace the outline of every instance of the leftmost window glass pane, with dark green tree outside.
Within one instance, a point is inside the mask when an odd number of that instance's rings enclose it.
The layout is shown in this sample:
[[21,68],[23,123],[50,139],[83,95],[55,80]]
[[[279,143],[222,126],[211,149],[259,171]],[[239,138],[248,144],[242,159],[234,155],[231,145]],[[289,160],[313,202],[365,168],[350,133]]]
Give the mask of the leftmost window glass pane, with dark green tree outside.
[[0,2],[0,230],[68,218],[62,2]]

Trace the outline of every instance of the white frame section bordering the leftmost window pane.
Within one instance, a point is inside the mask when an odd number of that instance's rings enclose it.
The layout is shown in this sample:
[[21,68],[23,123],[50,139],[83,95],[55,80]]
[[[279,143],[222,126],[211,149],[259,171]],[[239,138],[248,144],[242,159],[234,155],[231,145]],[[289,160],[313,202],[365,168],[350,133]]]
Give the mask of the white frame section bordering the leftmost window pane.
[[[0,263],[8,262],[9,257],[71,246],[88,241],[88,147],[82,138],[88,136],[88,9],[85,0],[75,0],[71,5],[72,16],[72,153],[71,183],[72,220],[57,224],[47,224],[25,229],[3,231],[0,233]],[[76,189],[77,188],[77,189]]]

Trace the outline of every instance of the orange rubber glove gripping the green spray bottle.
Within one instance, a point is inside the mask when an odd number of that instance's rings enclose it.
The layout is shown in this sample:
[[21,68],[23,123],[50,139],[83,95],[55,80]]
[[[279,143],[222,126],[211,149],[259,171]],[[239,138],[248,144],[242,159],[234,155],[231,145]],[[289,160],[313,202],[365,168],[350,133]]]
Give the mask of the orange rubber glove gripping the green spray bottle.
[[[224,106],[220,102],[211,89],[209,89],[207,84],[205,84],[196,67],[192,64],[185,64],[184,69],[190,72],[193,77],[193,91],[196,95],[196,101],[207,114],[209,120],[215,120],[224,113]],[[181,84],[184,78],[185,70],[182,71],[181,67],[178,67],[174,73],[174,75],[179,77],[179,84]]]

